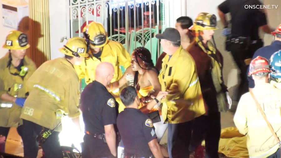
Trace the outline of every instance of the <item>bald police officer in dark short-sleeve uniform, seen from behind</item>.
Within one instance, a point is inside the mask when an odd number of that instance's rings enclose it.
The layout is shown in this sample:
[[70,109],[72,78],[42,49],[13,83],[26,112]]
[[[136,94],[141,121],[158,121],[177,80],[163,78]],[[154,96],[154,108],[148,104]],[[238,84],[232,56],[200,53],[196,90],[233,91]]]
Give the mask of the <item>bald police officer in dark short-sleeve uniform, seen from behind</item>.
[[106,86],[114,75],[109,62],[96,68],[96,79],[81,94],[81,110],[85,123],[82,157],[113,158],[117,156],[116,118],[118,105]]

